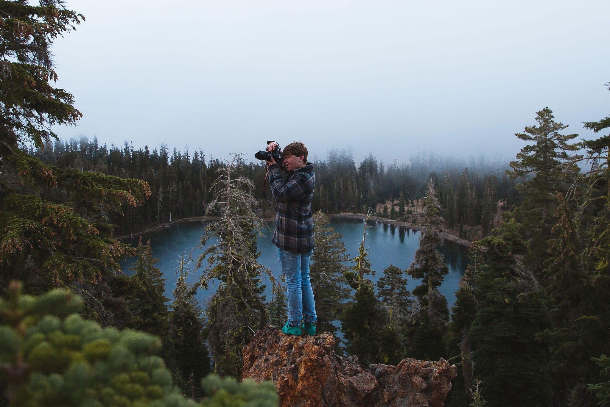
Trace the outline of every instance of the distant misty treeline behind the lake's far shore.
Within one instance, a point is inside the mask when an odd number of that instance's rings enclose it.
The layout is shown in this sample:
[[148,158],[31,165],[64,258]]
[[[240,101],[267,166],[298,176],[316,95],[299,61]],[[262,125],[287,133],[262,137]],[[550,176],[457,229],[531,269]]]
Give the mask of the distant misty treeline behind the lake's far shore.
[[[56,141],[46,149],[30,150],[31,155],[49,165],[101,172],[121,178],[144,180],[151,188],[151,196],[140,207],[125,205],[124,214],[116,215],[112,222],[121,234],[133,233],[176,219],[203,216],[206,204],[216,191],[212,185],[218,170],[226,162],[204,150],[184,152],[161,144],[160,149],[136,149],[133,143],[123,147],[99,144],[96,137],[90,141],[81,136],[78,140]],[[449,227],[454,225],[483,225],[483,233],[490,230],[492,215],[498,200],[510,205],[515,201],[514,181],[504,171],[508,161],[483,157],[468,162],[435,154],[415,154],[409,163],[384,164],[369,154],[356,165],[350,149],[331,149],[326,160],[313,158],[316,190],[312,210],[325,213],[342,211],[365,212],[378,203],[395,202],[397,207],[383,211],[382,216],[409,220],[405,203],[423,196],[426,182],[432,177],[442,196],[443,216]],[[263,199],[265,163],[249,163],[242,174],[253,180],[253,195],[260,201],[260,209],[267,213]],[[268,187],[267,187],[268,188]],[[55,191],[54,193],[57,193]],[[270,192],[267,192],[269,195]],[[415,219],[412,219],[415,220]]]

